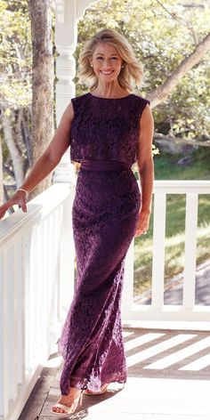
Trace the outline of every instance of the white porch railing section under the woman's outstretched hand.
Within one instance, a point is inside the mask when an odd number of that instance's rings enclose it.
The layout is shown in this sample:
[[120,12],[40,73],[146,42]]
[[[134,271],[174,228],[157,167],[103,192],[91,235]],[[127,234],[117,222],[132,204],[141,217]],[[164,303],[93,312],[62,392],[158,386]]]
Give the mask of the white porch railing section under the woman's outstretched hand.
[[74,185],[54,184],[0,222],[0,418],[17,420],[74,291]]

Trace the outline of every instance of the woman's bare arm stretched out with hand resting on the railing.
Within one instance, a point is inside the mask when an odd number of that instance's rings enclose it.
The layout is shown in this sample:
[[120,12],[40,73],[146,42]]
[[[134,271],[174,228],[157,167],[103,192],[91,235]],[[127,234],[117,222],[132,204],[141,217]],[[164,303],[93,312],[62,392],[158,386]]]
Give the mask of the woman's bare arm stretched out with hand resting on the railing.
[[[60,125],[54,133],[52,141],[44,150],[43,155],[36,160],[36,163],[32,166],[30,173],[20,188],[27,190],[28,192],[33,190],[36,185],[43,181],[44,178],[52,172],[55,166],[58,165],[62,155],[69,148],[69,132],[73,117],[74,110],[72,103],[70,102],[61,117]],[[0,206],[0,219],[4,217],[7,209],[15,204],[18,204],[22,210],[26,212],[27,206],[25,195],[24,191],[16,191],[9,201],[3,206]]]

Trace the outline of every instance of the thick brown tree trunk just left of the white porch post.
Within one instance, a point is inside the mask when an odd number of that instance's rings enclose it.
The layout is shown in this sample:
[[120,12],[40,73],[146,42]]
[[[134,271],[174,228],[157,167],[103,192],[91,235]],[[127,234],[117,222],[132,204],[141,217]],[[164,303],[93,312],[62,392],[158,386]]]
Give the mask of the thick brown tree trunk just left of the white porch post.
[[[53,135],[53,55],[50,0],[29,0],[33,47],[32,66],[32,150],[39,158]],[[51,175],[36,186],[31,196],[51,184]]]

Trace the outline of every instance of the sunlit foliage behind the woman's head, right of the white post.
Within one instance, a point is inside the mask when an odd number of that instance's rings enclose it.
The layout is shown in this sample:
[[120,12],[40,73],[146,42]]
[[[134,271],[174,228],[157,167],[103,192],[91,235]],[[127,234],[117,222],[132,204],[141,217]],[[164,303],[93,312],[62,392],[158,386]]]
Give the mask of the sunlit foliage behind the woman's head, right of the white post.
[[[85,40],[102,28],[121,32],[133,45],[144,65],[141,92],[147,93],[162,85],[182,60],[193,52],[209,30],[209,4],[192,0],[194,7],[177,0],[101,0],[91,5],[78,23],[76,59]],[[197,7],[195,7],[197,5]],[[182,78],[166,101],[154,109],[156,130],[163,125],[175,135],[205,140],[209,136],[210,53]],[[77,77],[76,77],[77,82]],[[85,93],[77,85],[77,94]]]

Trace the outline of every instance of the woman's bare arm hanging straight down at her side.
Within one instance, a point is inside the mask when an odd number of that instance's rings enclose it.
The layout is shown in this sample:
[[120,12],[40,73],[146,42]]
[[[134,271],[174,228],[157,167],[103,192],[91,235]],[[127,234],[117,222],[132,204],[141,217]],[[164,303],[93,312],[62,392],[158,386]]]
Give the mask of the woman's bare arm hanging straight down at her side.
[[154,163],[152,158],[152,139],[154,120],[149,105],[145,107],[140,119],[140,137],[136,155],[139,178],[141,182],[141,212],[135,236],[141,235],[149,228],[151,198],[154,181]]

